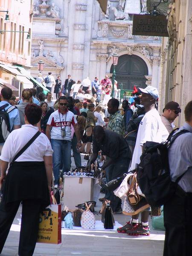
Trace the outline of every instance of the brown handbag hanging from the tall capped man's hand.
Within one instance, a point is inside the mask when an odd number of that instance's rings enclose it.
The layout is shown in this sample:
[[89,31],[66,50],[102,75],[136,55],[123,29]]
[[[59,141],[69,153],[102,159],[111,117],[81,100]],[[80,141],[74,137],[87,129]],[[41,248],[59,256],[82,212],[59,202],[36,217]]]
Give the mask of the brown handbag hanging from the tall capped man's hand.
[[131,205],[137,205],[139,201],[143,198],[141,195],[137,194],[137,186],[137,172],[134,172],[130,189],[127,193],[127,200]]

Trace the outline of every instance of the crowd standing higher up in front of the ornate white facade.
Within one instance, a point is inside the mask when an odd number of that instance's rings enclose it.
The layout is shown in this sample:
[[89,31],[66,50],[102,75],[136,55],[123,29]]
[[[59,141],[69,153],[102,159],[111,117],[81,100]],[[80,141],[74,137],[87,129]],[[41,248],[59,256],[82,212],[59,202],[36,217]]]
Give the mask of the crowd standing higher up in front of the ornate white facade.
[[[72,96],[73,99],[87,100],[91,99],[92,102],[102,102],[107,106],[109,99],[111,99],[112,83],[106,75],[104,79],[99,81],[98,77],[91,82],[87,76],[85,79],[73,80],[71,75],[67,76],[62,84],[61,77],[58,76],[54,79],[52,73],[49,72],[47,76],[43,77],[39,73],[37,79],[39,83],[43,84],[52,93],[54,99],[59,96],[65,95],[66,97]],[[114,98],[119,99],[120,90],[118,89],[117,81],[114,82]]]

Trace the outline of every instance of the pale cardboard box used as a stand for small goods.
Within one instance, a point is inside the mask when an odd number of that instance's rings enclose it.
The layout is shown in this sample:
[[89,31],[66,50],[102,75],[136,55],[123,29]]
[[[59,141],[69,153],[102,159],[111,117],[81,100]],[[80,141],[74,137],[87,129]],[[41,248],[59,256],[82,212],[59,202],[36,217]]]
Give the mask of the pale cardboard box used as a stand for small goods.
[[93,201],[93,177],[64,176],[64,204],[70,209],[86,201]]

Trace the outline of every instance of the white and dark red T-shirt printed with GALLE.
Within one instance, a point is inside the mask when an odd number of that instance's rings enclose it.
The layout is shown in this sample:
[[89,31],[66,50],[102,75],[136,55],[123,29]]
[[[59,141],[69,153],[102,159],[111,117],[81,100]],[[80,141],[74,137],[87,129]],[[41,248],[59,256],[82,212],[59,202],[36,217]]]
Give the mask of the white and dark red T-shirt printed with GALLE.
[[[75,115],[71,111],[67,110],[66,113],[62,114],[58,110],[56,110],[49,116],[47,125],[52,127],[51,139],[71,141],[71,125],[77,125],[77,120]],[[65,129],[65,137],[61,137],[61,128]]]

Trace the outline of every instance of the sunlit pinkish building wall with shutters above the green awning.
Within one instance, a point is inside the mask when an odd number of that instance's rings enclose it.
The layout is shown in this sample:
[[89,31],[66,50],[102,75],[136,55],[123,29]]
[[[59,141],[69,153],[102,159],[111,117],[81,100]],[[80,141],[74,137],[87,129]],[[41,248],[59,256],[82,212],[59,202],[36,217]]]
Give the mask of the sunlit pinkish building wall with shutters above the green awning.
[[[0,12],[0,30],[28,32],[32,28],[30,15],[32,0],[0,0],[0,10],[9,11],[9,23],[4,23],[5,12]],[[0,34],[0,61],[30,66],[31,43],[26,41],[27,33],[4,32]]]

